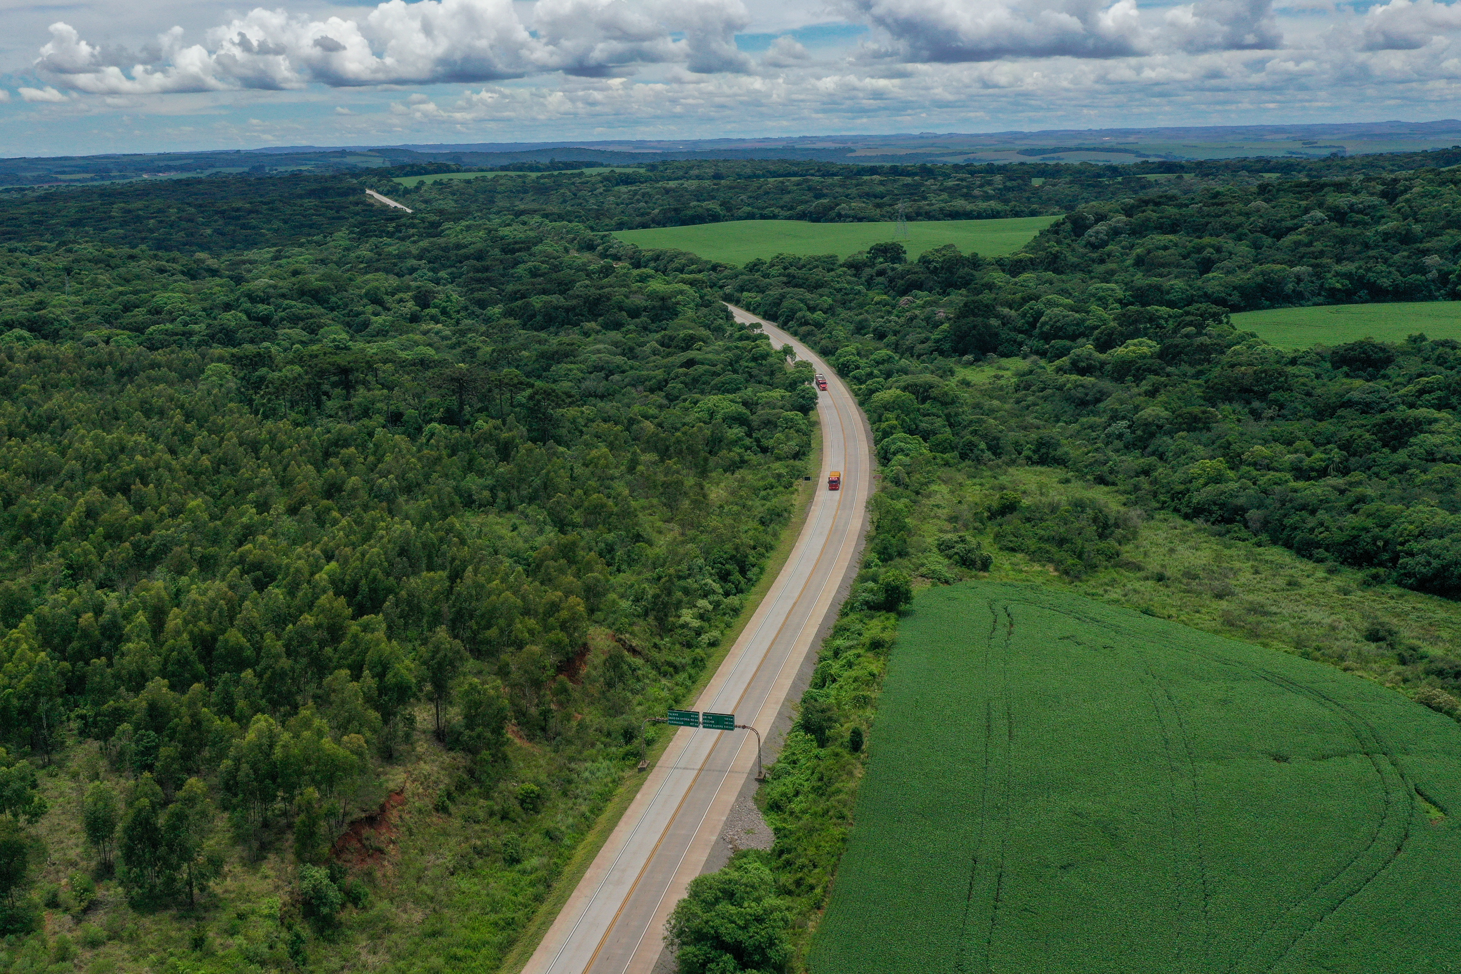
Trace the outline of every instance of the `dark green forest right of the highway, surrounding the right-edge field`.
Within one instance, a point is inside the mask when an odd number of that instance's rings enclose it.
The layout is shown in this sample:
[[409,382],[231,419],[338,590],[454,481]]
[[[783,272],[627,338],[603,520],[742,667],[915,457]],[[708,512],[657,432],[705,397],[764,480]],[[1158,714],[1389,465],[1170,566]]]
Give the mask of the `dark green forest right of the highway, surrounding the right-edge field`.
[[[1214,190],[1211,206],[1157,196],[1134,202],[1129,218],[1086,206],[995,261],[941,250],[910,264],[901,247],[880,244],[840,264],[780,257],[722,279],[861,384],[884,463],[922,451],[964,460],[1030,451],[1306,556],[1455,594],[1455,342],[1417,334],[1400,346],[1289,353],[1235,331],[1229,308],[1210,301],[1451,294],[1461,238],[1448,228],[1449,207],[1423,203],[1452,199],[1452,177],[1410,183],[1394,187],[1405,190],[1394,207],[1363,197],[1376,218],[1398,210],[1388,223],[1346,213],[1362,199],[1350,183],[1259,185],[1248,197],[1271,203]],[[1306,209],[1287,226],[1275,218]],[[1246,226],[1213,226],[1220,213]],[[1119,235],[1103,232],[1112,223]],[[1259,263],[1283,254],[1308,263]],[[951,381],[955,362],[983,355],[1043,359],[1004,413],[1024,418],[1018,434],[988,397]],[[1042,421],[1039,432],[1031,421]]]

